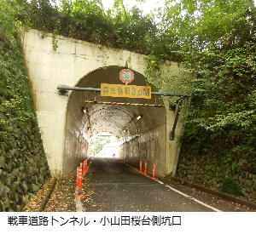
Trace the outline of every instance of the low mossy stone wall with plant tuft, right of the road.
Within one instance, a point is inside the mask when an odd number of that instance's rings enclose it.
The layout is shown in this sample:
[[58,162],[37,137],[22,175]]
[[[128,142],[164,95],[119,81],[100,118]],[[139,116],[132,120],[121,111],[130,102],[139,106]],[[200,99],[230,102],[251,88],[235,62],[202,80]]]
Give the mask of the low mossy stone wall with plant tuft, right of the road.
[[[183,145],[177,177],[192,180],[212,188],[256,199],[256,171],[254,157],[240,158],[236,167],[230,167],[213,155],[199,155]],[[233,164],[234,165],[234,164]]]

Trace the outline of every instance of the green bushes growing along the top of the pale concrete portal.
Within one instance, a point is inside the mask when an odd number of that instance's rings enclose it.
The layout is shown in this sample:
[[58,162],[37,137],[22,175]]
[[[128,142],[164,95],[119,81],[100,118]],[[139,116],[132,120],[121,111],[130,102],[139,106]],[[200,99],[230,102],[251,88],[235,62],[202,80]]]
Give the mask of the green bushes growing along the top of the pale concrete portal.
[[[136,7],[126,9],[120,0],[108,11],[100,0],[62,0],[60,6],[49,0],[14,1],[19,4],[16,17],[23,25],[53,32],[54,37],[74,37],[139,53],[147,53],[148,43],[156,38],[153,18]],[[57,49],[55,39],[53,45]]]

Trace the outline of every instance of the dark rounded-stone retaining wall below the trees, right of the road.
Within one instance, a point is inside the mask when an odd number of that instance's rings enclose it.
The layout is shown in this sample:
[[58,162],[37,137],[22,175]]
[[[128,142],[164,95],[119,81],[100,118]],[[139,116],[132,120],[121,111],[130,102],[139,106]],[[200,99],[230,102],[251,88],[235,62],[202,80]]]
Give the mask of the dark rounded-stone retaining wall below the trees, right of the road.
[[251,168],[253,157],[239,159],[236,168],[229,171],[226,165],[219,165],[214,157],[200,157],[181,154],[177,165],[177,176],[193,180],[207,186],[222,189],[222,181],[227,176],[236,181],[245,197],[256,199],[256,171]]

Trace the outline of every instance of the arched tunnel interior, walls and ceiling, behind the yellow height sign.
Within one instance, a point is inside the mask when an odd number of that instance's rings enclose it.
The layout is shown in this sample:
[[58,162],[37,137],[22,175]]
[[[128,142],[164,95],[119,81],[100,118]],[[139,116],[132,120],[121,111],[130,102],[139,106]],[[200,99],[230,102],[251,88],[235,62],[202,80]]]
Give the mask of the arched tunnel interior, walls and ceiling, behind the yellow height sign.
[[[119,80],[119,72],[123,69],[121,66],[97,69],[82,77],[76,86],[101,88],[101,83],[123,84]],[[132,85],[147,85],[142,74],[133,72]],[[101,132],[113,134],[119,140],[120,158],[135,164],[140,160],[147,161],[148,167],[156,163],[156,172],[166,174],[166,108],[115,106],[86,103],[85,100],[164,105],[160,96],[146,100],[73,91],[67,103],[62,176],[76,168],[82,159],[91,156],[90,139]]]

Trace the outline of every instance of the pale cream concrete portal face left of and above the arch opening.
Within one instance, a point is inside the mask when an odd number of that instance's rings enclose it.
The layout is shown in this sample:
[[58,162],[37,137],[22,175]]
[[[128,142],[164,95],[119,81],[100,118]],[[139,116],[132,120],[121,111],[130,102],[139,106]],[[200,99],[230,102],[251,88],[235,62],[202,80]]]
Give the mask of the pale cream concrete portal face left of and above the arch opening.
[[143,72],[145,66],[141,54],[67,37],[57,37],[55,51],[52,40],[52,34],[31,29],[24,32],[22,43],[49,168],[54,176],[60,177],[67,97],[58,95],[57,86],[75,86],[90,71],[104,66],[125,66],[126,60],[136,71]]

